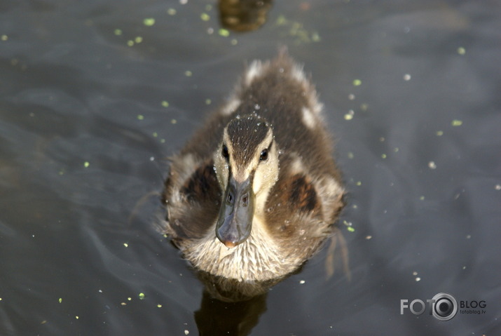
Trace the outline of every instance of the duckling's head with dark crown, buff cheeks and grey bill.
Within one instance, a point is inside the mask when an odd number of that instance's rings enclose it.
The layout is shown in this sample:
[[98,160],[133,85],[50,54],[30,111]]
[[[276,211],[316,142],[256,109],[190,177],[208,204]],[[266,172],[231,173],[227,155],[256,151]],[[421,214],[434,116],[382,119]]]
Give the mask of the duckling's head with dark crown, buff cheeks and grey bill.
[[217,180],[224,191],[216,236],[228,248],[251,234],[256,214],[278,179],[278,149],[273,129],[256,114],[237,116],[224,128],[214,153]]

